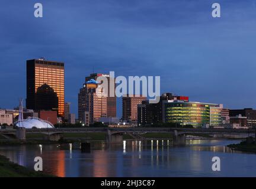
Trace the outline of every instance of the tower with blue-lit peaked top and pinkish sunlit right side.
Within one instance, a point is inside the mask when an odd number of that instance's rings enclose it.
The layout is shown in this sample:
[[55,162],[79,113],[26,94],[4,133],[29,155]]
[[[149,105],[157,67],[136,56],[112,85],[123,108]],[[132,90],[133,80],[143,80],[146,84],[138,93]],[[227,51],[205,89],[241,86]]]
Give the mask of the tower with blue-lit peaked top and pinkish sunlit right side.
[[107,97],[103,96],[98,83],[94,79],[85,82],[78,94],[78,118],[85,125],[98,122],[101,117],[107,117]]

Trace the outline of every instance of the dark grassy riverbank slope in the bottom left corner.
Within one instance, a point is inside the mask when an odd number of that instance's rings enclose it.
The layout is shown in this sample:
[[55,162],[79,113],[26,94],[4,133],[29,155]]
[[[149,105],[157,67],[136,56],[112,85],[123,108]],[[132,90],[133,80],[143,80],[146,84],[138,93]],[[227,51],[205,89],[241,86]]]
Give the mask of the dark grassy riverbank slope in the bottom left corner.
[[14,164],[8,158],[0,155],[0,177],[54,177],[43,172],[28,170],[21,165]]

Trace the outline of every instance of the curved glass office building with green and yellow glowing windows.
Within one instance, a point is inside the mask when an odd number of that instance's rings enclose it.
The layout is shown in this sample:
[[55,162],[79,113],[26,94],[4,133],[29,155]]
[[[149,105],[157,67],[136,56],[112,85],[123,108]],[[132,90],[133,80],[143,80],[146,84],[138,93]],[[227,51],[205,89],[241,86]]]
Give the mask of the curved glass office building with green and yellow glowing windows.
[[163,106],[163,120],[167,123],[193,125],[195,128],[206,125],[215,126],[221,123],[222,105],[168,100]]

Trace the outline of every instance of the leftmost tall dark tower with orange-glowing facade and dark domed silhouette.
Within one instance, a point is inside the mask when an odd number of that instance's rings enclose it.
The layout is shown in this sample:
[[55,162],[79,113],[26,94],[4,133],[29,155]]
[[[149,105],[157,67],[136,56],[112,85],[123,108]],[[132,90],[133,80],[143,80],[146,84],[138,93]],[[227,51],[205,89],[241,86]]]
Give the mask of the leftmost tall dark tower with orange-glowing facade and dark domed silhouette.
[[63,117],[64,76],[64,63],[41,58],[27,60],[27,109],[56,110]]

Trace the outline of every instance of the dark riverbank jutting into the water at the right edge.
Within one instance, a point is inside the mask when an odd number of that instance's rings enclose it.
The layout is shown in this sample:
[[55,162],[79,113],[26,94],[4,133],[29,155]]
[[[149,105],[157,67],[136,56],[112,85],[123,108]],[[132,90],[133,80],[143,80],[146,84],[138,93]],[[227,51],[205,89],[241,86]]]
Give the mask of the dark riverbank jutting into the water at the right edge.
[[256,153],[256,141],[254,138],[247,138],[239,144],[228,145],[229,148],[237,151],[254,152]]

